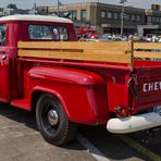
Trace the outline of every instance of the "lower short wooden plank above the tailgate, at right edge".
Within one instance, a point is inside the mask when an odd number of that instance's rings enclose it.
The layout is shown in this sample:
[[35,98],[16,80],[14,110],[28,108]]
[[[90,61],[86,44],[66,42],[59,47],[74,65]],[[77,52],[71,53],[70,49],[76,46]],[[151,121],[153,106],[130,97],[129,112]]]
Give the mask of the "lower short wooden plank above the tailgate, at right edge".
[[135,58],[153,58],[153,59],[161,59],[161,52],[146,52],[146,51],[135,51]]

